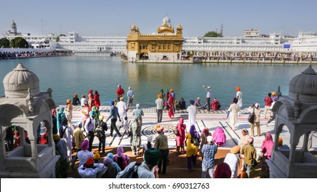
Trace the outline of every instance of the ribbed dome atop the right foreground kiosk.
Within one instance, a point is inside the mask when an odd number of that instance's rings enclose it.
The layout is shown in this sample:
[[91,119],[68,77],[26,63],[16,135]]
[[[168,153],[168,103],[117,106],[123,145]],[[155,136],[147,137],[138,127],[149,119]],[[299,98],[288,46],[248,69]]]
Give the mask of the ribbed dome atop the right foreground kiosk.
[[[292,95],[310,95],[317,97],[317,73],[309,66],[302,74],[296,75],[290,81],[289,93]],[[294,98],[292,98],[294,99]]]

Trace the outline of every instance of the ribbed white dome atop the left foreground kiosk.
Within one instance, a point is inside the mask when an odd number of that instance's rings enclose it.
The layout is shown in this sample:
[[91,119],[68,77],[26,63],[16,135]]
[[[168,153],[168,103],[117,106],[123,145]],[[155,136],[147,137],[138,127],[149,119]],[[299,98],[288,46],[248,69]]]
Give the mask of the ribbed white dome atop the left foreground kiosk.
[[31,95],[36,96],[40,93],[39,85],[40,81],[35,73],[27,70],[21,63],[3,79],[5,97],[8,98],[25,98],[29,88]]

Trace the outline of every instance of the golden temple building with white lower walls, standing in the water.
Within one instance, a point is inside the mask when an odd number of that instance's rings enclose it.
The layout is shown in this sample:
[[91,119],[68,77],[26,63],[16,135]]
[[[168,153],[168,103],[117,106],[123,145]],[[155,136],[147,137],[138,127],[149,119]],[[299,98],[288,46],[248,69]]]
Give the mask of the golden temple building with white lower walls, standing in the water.
[[170,19],[165,16],[157,34],[141,34],[139,27],[131,26],[127,38],[126,59],[133,60],[179,60],[183,47],[183,27],[176,27],[176,34]]

